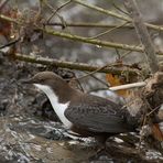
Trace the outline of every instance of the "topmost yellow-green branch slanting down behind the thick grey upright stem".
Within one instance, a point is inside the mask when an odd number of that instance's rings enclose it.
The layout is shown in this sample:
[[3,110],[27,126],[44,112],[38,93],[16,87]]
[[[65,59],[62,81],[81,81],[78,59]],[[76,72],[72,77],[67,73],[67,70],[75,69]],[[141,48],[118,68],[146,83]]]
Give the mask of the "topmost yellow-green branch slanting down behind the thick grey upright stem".
[[[113,11],[109,11],[109,10],[105,10],[102,8],[99,8],[99,7],[96,7],[96,6],[91,6],[91,4],[88,4],[87,2],[84,2],[82,0],[72,0],[80,6],[84,6],[84,7],[87,7],[89,9],[93,9],[95,11],[98,11],[98,12],[101,12],[104,14],[108,14],[108,15],[111,15],[111,17],[115,17],[117,19],[120,19],[120,20],[124,20],[124,21],[128,21],[128,22],[132,22],[132,20],[128,17],[124,17],[122,14],[119,14],[119,13],[116,13]],[[154,25],[154,24],[150,24],[150,23],[144,23],[148,28],[150,29],[153,29],[153,30],[157,30],[157,31],[163,31],[163,28],[162,26],[157,26],[157,25]]]

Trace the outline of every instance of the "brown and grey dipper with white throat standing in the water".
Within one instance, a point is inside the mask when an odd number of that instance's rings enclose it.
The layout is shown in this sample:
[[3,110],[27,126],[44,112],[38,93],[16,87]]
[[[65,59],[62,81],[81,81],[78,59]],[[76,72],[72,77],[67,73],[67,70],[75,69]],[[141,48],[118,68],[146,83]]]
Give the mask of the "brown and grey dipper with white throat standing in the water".
[[76,90],[53,72],[37,73],[25,83],[43,90],[65,127],[80,137],[105,142],[109,135],[134,131],[138,126],[124,107]]

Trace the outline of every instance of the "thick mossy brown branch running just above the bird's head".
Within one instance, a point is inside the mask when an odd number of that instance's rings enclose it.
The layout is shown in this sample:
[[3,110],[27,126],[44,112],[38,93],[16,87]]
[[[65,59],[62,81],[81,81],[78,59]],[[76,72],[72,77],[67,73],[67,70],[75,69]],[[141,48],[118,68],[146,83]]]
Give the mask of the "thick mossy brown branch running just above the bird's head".
[[[9,55],[10,57],[10,55]],[[99,70],[99,73],[111,73],[111,74],[117,74],[121,75],[123,73],[128,73],[129,75],[139,75],[140,72],[138,69],[129,68],[129,67],[100,67],[100,66],[91,66],[89,64],[84,64],[84,63],[73,63],[73,62],[63,62],[58,59],[52,59],[52,58],[44,58],[41,56],[31,56],[31,55],[23,55],[19,53],[11,54],[11,57],[14,59],[19,61],[24,61],[29,63],[35,63],[35,64],[42,64],[42,65],[52,65],[56,67],[62,67],[62,68],[69,68],[69,69],[77,69],[77,70],[86,70],[86,72],[94,72],[94,70]]]

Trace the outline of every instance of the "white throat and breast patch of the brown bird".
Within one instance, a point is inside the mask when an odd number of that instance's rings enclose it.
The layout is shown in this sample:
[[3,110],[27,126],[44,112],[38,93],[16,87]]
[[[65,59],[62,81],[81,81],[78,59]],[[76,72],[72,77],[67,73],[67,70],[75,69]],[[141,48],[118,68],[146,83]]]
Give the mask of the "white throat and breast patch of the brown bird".
[[61,121],[67,128],[70,128],[73,124],[64,115],[66,108],[69,105],[69,101],[66,104],[59,104],[57,96],[55,95],[55,93],[53,91],[53,89],[51,87],[48,87],[46,85],[40,85],[40,84],[34,84],[34,86],[36,86],[39,89],[41,89],[42,91],[44,91],[46,94],[46,96],[48,97],[48,99],[51,101],[51,105],[53,106],[54,111],[56,112],[56,115],[58,116]]

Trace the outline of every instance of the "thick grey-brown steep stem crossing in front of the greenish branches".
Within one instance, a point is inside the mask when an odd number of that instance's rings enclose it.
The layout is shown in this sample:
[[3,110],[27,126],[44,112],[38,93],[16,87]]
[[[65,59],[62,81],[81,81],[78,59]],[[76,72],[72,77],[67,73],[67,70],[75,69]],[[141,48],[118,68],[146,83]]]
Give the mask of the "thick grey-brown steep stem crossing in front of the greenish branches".
[[141,13],[139,11],[137,2],[135,0],[124,0],[124,4],[133,19],[133,25],[135,28],[138,36],[140,37],[142,45],[144,46],[151,73],[155,73],[159,70],[159,63],[156,59],[155,50],[150,39],[148,29],[142,21]]

